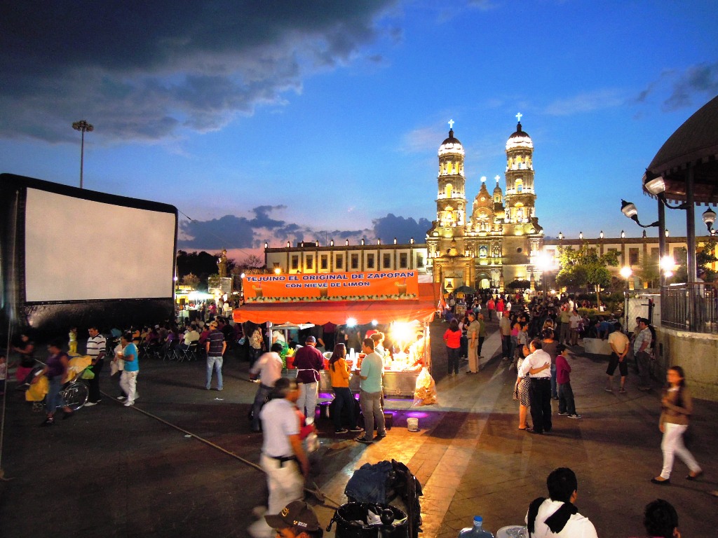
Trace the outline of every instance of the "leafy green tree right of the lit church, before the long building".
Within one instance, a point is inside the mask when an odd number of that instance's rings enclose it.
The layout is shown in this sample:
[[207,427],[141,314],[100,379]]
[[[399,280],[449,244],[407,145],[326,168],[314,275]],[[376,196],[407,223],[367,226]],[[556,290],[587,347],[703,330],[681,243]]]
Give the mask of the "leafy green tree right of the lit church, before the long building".
[[561,270],[556,275],[556,284],[574,289],[591,287],[596,292],[596,304],[600,305],[600,290],[611,283],[609,265],[618,265],[618,253],[615,250],[600,256],[585,242],[579,250],[559,248]]

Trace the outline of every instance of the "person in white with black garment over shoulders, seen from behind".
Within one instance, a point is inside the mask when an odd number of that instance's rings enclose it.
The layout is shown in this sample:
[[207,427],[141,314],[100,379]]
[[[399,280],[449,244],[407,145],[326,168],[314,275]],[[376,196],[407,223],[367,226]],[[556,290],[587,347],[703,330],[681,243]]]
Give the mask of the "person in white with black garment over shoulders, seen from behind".
[[574,502],[578,497],[578,481],[574,471],[560,467],[546,479],[549,499],[539,497],[531,502],[526,513],[529,536],[536,538],[598,538],[596,527],[579,514]]

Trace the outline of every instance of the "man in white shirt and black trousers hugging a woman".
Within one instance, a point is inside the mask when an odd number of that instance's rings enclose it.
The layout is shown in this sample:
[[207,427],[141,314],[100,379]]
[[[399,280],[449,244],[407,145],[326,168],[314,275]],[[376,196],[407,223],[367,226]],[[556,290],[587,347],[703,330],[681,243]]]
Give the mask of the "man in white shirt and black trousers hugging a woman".
[[541,340],[531,340],[528,349],[531,354],[523,359],[519,377],[528,375],[531,384],[528,387],[528,399],[531,401],[531,433],[543,435],[550,432],[551,423],[551,355],[541,349]]

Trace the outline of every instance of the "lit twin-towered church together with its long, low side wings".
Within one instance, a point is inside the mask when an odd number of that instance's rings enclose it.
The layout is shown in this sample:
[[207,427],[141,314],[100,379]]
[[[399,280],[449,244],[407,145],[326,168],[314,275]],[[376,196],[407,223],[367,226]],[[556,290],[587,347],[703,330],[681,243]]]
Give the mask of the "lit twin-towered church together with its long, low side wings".
[[[595,239],[564,237],[561,232],[554,232],[558,238],[544,237],[536,214],[533,141],[523,131],[521,115],[517,117],[516,131],[505,145],[505,189],[500,176],[495,176],[493,189],[482,178],[476,194],[466,192],[465,151],[449,122],[449,136],[437,154],[436,220],[425,242],[412,237],[408,243],[395,238],[388,244],[362,239],[356,245],[348,240],[336,245],[334,240],[326,245],[318,240],[265,245],[266,268],[287,274],[409,269],[441,283],[447,292],[462,286],[504,292],[514,280],[526,280],[535,288],[543,276],[542,258],[554,260],[555,276],[559,249],[585,245],[600,254],[617,251],[620,265],[609,269],[618,277],[622,265],[630,267],[630,288],[648,285],[640,273],[646,263],[657,264],[656,237],[645,237],[645,232],[643,237],[625,237],[623,232],[618,238],[603,237],[603,232]],[[667,254],[678,262],[686,244],[686,237],[667,237]]]

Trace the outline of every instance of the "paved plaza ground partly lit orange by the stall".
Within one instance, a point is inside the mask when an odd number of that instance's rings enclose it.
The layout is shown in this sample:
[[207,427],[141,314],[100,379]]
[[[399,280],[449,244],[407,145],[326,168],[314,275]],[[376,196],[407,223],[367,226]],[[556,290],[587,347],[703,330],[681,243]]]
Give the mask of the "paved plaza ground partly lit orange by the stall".
[[[353,442],[350,434],[335,435],[328,421],[317,423],[322,448],[312,456],[309,483],[317,483],[327,498],[344,503],[344,486],[355,468],[394,458],[424,487],[420,536],[455,537],[474,515],[495,532],[523,523],[528,503],[546,495],[548,473],[568,466],[579,480],[579,511],[602,538],[643,536],[643,507],[658,497],[678,509],[684,538],[716,536],[718,498],[709,491],[718,489],[717,404],[694,402],[689,446],[704,477],[686,481],[687,469],[676,461],[671,486],[655,486],[649,479],[661,470],[658,382],[644,393],[630,377],[627,395],[604,392],[607,357],[587,357],[577,347],[572,386],[583,418],[554,415],[551,435],[530,435],[518,430],[515,374],[495,357],[495,325],[482,371],[474,376],[446,377],[441,333],[441,322],[435,322],[439,405],[417,410],[409,399],[388,400],[394,427],[370,446]],[[248,364],[231,353],[224,372],[225,390],[206,391],[202,362],[144,359],[135,408],[113,400],[116,381],[104,372],[101,404],[51,428],[39,427],[43,415],[32,412],[11,384],[0,536],[248,536],[251,509],[266,502],[263,473],[238,459],[259,459],[261,435],[250,432],[247,420],[256,384],[248,381]],[[416,411],[422,414],[420,431],[411,433],[406,418]],[[333,510],[317,506],[317,512],[328,524]]]

